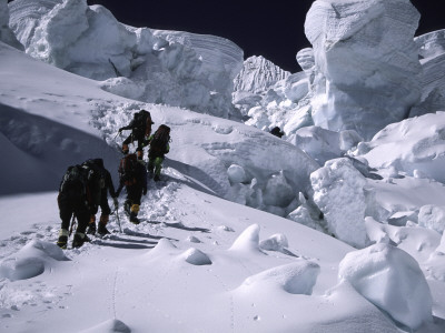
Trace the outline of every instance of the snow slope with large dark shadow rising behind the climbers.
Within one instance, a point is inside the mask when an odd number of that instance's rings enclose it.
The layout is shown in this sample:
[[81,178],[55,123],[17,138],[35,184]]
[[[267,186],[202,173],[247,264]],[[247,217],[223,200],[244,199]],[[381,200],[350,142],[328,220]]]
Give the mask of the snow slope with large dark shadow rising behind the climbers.
[[[281,216],[296,209],[298,192],[310,195],[309,174],[318,164],[271,134],[226,119],[112,95],[92,80],[3,43],[0,56],[3,157],[26,161],[1,173],[0,194],[56,190],[68,165],[95,155],[102,157],[117,175],[116,148],[126,138],[117,135],[118,129],[144,108],[151,113],[154,130],[161,123],[171,128],[165,164],[192,179],[197,188]],[[17,75],[23,69],[24,81]],[[67,81],[69,85],[61,84]],[[27,89],[27,97],[18,95],[17,87]]]

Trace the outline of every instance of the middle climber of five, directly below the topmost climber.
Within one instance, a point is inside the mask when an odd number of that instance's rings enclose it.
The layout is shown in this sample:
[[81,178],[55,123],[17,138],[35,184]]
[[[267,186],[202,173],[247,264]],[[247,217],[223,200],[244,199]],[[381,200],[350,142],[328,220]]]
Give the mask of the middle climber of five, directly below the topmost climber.
[[116,195],[119,195],[126,186],[127,199],[125,201],[125,211],[130,216],[130,222],[139,224],[138,213],[140,199],[147,194],[147,170],[141,160],[136,154],[125,155],[119,163],[119,188]]

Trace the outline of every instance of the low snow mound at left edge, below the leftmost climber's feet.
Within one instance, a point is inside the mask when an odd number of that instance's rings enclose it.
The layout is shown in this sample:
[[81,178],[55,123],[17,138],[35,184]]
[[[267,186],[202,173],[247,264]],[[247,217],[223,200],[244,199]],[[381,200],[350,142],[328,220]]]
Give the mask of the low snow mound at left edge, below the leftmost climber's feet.
[[53,243],[31,241],[19,252],[0,262],[0,278],[26,280],[42,274],[58,261],[68,261],[63,251]]

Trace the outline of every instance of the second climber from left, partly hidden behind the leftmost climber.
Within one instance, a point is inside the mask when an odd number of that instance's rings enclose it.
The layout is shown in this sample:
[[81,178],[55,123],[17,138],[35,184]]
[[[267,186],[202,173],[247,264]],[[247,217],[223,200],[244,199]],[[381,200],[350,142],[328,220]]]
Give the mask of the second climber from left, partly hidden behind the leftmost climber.
[[90,213],[90,220],[89,220],[87,233],[95,234],[97,231],[100,235],[109,234],[110,232],[107,229],[107,223],[109,221],[111,209],[108,204],[108,192],[110,193],[110,195],[112,198],[115,208],[118,205],[118,199],[116,195],[115,185],[112,184],[111,174],[103,167],[102,159],[91,159],[91,160],[83,162],[83,164],[89,165],[90,168],[97,169],[97,171],[100,172],[100,175],[101,175],[101,190],[100,190],[100,201],[99,201],[99,206],[101,210],[100,220],[99,220],[98,226],[96,229],[96,214],[98,212],[98,208],[96,208],[96,210],[91,211],[91,213]]

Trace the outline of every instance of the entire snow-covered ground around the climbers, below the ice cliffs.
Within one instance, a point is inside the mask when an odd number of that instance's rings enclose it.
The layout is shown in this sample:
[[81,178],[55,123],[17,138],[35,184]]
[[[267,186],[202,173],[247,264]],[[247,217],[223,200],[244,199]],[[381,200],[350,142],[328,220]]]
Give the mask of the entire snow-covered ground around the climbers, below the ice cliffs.
[[[0,75],[1,332],[445,331],[443,112],[359,144],[307,128],[306,153],[2,42]],[[141,223],[121,194],[110,235],[59,249],[66,168],[100,157],[116,184],[117,129],[141,108],[172,134]]]

